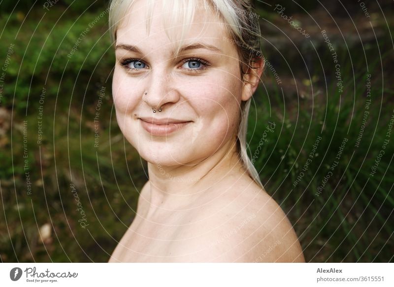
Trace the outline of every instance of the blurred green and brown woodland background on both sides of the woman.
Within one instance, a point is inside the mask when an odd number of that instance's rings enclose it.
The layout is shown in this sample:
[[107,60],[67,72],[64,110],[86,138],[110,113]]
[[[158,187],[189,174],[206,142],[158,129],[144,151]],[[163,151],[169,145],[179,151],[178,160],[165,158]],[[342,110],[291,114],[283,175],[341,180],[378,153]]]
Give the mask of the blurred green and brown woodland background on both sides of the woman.
[[[0,2],[0,260],[105,262],[146,163],[116,123],[108,2],[49,3]],[[267,68],[248,143],[265,189],[306,261],[392,262],[393,1],[256,4]]]

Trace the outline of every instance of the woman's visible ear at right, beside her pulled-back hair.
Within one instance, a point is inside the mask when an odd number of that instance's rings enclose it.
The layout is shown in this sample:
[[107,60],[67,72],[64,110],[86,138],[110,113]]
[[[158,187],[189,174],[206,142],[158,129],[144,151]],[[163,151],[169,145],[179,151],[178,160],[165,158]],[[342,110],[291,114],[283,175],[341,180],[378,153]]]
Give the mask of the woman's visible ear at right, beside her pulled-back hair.
[[243,76],[242,101],[249,100],[256,91],[264,70],[264,58],[257,58]]

